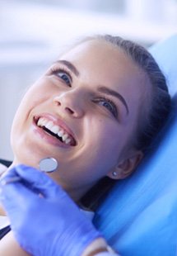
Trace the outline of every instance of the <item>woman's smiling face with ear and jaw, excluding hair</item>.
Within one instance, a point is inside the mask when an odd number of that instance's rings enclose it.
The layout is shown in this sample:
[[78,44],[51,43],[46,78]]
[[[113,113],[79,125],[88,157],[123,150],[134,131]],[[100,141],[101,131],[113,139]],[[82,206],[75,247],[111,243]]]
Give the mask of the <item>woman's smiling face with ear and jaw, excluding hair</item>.
[[14,164],[38,168],[40,159],[54,157],[59,167],[49,175],[76,199],[105,175],[123,178],[139,157],[124,149],[137,127],[143,79],[106,42],[69,50],[21,101],[12,126]]

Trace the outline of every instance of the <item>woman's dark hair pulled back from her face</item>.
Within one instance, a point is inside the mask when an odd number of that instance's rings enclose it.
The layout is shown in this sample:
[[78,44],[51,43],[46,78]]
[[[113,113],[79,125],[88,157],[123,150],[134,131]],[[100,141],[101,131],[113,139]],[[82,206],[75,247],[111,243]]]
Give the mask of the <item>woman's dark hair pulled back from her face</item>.
[[[152,140],[165,125],[165,121],[168,119],[170,113],[171,100],[164,74],[151,54],[144,47],[137,45],[133,41],[124,40],[119,36],[98,35],[86,37],[82,42],[88,40],[104,40],[115,47],[119,47],[147,75],[152,87],[151,100],[148,104],[146,115],[144,113],[145,107],[140,112],[140,124],[137,126],[137,135],[133,135],[132,141],[136,149],[140,149],[143,153],[146,153],[151,148]],[[90,192],[86,193],[82,201],[87,206],[95,208],[98,201],[107,194],[109,188],[114,183],[114,180],[109,178],[101,179]],[[93,195],[95,196],[94,201],[92,200]]]

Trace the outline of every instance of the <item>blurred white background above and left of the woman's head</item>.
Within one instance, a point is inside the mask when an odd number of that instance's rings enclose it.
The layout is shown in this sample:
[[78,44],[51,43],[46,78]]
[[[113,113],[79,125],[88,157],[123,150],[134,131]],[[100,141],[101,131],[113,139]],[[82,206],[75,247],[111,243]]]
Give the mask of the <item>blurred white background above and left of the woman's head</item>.
[[22,94],[63,46],[96,33],[149,46],[176,28],[175,0],[0,0],[0,158],[12,159],[10,129]]

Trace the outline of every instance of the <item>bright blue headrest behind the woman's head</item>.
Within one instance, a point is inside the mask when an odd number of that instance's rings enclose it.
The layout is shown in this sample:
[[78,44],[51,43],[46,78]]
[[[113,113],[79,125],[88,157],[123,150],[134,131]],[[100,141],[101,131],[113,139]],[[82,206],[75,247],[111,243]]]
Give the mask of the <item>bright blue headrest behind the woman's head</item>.
[[[151,54],[177,91],[177,35]],[[177,95],[155,152],[130,178],[119,181],[95,214],[95,225],[119,254],[175,255],[177,247]],[[167,129],[168,128],[168,129]]]

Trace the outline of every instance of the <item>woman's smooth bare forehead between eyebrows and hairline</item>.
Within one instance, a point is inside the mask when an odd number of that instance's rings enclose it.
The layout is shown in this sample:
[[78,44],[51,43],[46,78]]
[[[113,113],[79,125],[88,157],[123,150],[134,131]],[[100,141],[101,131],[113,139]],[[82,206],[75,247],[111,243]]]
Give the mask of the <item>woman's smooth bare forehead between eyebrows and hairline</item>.
[[75,46],[60,59],[72,62],[86,83],[104,84],[123,94],[128,104],[138,105],[146,94],[145,73],[119,46],[90,40]]

